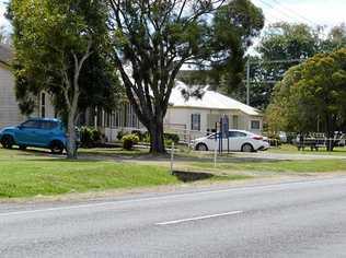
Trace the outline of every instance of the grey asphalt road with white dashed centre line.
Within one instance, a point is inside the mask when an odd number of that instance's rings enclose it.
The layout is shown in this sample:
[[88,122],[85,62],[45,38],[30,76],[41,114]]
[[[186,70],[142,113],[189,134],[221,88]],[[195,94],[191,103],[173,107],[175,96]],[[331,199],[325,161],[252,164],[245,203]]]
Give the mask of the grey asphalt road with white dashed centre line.
[[2,204],[0,257],[346,257],[346,177]]

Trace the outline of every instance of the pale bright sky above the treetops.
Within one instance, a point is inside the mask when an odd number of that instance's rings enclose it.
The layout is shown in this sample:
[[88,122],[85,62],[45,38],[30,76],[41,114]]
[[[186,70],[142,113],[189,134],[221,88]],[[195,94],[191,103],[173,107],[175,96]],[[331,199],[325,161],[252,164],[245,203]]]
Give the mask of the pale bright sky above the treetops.
[[[9,26],[3,17],[7,0],[0,0],[0,26]],[[346,23],[346,0],[252,0],[262,8],[266,24],[274,22],[307,23],[332,27]]]

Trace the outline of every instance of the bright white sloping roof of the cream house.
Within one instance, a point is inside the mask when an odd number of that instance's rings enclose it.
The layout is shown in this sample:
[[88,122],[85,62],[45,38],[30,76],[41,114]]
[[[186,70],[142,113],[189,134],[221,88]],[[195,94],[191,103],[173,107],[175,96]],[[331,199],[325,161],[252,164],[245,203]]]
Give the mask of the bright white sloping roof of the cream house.
[[247,106],[229,96],[222,95],[215,91],[204,90],[201,98],[189,97],[185,99],[182,90],[187,86],[183,82],[176,82],[170,97],[170,104],[173,107],[191,107],[219,110],[240,110],[251,116],[262,116],[261,112],[254,107]]

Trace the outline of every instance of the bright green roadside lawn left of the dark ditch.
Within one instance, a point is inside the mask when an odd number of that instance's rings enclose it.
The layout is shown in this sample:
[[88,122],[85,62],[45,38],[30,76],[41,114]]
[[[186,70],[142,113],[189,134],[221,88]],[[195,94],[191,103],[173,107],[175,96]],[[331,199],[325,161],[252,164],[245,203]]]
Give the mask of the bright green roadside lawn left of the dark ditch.
[[[91,153],[92,151],[86,150],[85,152]],[[93,150],[93,152],[101,152],[101,150]],[[112,151],[113,154],[115,152],[115,150]],[[135,151],[134,154],[136,155],[136,153]],[[125,153],[125,156],[130,154],[132,153]],[[214,176],[208,179],[243,179],[247,177],[230,175]],[[176,184],[181,184],[181,180],[170,174],[168,166],[114,161],[67,161],[53,157],[48,152],[22,152],[0,148],[0,198],[55,196]]]

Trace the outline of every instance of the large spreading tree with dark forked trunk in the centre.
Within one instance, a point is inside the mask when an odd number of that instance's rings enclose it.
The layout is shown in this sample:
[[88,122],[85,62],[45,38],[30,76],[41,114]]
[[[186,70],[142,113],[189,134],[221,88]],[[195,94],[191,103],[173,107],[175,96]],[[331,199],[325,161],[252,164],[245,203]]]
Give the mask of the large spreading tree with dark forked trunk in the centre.
[[[238,4],[234,9],[233,2]],[[108,0],[114,63],[148,128],[151,152],[164,153],[163,117],[185,63],[219,67],[237,80],[242,54],[263,26],[249,0]],[[252,12],[252,15],[249,14]]]

